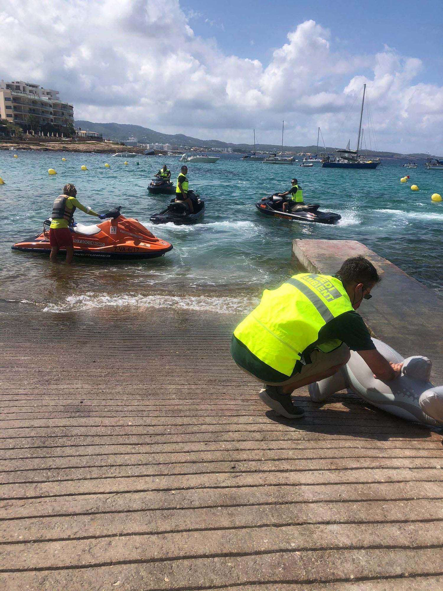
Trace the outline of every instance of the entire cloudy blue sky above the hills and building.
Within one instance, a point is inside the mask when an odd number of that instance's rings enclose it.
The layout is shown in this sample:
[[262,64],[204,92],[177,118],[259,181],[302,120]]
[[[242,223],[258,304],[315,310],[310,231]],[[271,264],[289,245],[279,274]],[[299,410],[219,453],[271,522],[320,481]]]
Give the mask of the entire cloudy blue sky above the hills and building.
[[76,119],[201,139],[441,153],[443,0],[2,0],[0,79]]

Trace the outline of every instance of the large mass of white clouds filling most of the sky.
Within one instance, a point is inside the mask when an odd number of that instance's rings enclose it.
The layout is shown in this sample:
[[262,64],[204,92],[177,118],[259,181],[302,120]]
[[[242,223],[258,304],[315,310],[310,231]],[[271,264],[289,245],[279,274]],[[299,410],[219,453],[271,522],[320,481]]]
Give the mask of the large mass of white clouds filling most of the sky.
[[353,138],[366,82],[380,149],[441,151],[443,87],[419,82],[421,60],[388,46],[346,54],[305,21],[262,64],[197,37],[193,18],[178,0],[6,0],[1,77],[59,89],[79,119],[202,138],[250,142],[255,127],[278,143],[285,119],[293,145],[312,143],[318,125],[328,145]]

